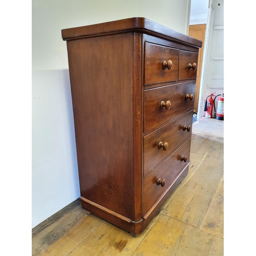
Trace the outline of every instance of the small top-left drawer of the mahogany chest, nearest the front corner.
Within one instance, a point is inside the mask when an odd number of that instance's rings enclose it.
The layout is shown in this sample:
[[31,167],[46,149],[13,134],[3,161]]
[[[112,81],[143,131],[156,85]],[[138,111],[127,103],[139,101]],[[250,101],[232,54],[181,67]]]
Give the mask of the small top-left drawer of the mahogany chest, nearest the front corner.
[[145,85],[177,81],[178,54],[178,49],[145,42]]

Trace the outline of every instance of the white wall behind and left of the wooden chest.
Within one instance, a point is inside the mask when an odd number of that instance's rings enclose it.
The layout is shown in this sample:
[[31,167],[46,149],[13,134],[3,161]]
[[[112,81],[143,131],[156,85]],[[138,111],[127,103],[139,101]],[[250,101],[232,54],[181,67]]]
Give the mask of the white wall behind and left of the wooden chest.
[[61,29],[145,17],[188,34],[190,0],[32,1],[32,227],[80,196]]

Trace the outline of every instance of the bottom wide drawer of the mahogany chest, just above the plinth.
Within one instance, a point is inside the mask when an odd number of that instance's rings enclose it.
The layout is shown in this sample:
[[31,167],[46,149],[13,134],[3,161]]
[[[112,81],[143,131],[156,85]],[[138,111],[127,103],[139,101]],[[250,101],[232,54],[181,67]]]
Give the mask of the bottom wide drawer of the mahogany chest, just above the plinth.
[[[153,206],[157,199],[164,193],[165,189],[171,185],[181,170],[189,163],[191,139],[187,140],[177,151],[170,155],[151,175],[143,181],[142,188],[142,208],[143,216]],[[181,161],[182,156],[187,157]],[[186,160],[186,162],[184,162]],[[157,184],[158,179],[162,184]],[[164,184],[165,182],[165,184]]]

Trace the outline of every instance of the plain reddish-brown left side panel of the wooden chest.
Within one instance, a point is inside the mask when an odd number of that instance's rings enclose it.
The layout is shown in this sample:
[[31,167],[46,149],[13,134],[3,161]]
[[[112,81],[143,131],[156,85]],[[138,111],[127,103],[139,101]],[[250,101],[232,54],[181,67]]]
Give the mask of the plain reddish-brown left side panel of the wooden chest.
[[133,35],[67,44],[81,196],[133,219]]

